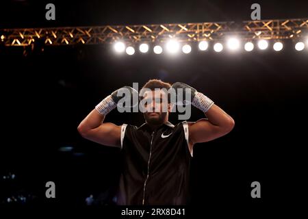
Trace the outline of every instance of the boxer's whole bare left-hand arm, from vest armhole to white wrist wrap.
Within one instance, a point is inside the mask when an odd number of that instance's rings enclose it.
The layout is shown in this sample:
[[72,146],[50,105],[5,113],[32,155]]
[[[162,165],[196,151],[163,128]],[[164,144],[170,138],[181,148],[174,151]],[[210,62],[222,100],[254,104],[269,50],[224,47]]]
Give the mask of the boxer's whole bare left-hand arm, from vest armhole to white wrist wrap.
[[92,110],[78,126],[78,131],[84,138],[106,146],[120,147],[121,127],[113,123],[103,123],[105,116],[97,110]]

